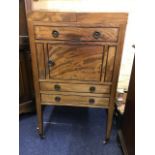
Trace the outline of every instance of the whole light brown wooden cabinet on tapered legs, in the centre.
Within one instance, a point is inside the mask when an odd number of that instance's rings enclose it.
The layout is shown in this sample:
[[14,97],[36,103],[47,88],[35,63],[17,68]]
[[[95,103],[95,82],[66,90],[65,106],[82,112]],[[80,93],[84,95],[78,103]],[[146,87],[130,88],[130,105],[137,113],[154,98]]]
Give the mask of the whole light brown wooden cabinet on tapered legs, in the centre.
[[42,105],[97,107],[108,110],[109,140],[126,23],[126,13],[29,14],[41,136]]

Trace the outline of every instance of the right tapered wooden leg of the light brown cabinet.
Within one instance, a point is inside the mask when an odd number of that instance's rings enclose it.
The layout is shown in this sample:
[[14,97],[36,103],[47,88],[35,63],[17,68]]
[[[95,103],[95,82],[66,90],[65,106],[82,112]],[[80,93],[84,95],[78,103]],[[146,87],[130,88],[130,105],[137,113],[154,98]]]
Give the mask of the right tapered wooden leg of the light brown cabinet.
[[114,113],[114,107],[109,108],[107,113],[107,129],[104,144],[108,143],[110,139],[112,122],[113,122],[113,113]]

